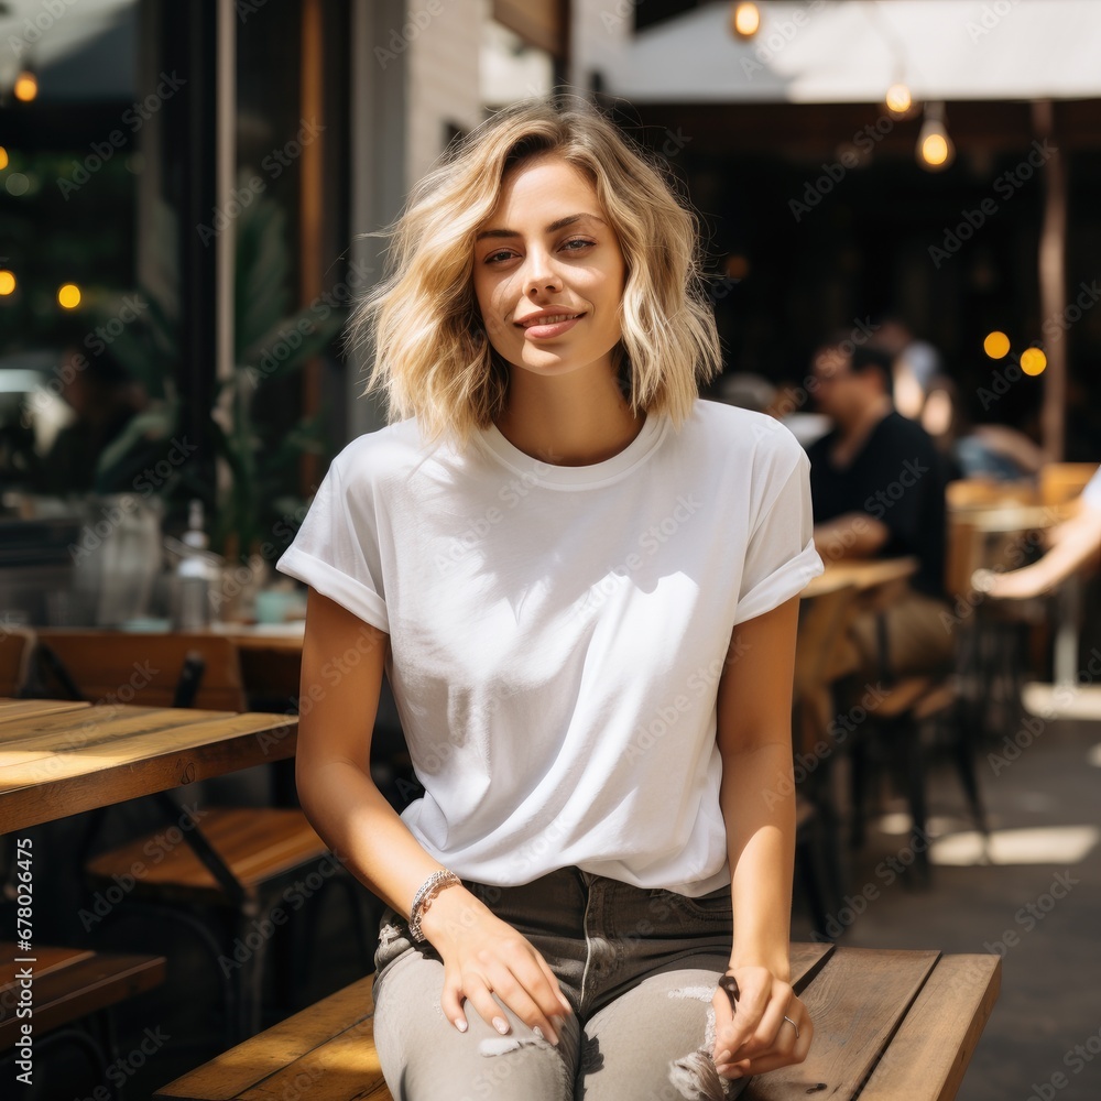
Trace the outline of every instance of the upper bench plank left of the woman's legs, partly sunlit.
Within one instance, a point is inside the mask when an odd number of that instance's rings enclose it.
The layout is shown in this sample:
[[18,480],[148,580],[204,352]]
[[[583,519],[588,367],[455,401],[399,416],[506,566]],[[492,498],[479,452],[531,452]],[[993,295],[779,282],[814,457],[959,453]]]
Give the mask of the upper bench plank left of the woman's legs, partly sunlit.
[[[182,1101],[232,1101],[241,1097],[287,1064],[303,1058],[348,1028],[370,1021],[374,1014],[373,983],[373,974],[357,980],[162,1087],[155,1097]],[[373,1050],[373,1043],[370,1046]],[[269,1097],[272,1095],[279,1097],[279,1093],[269,1092]]]

